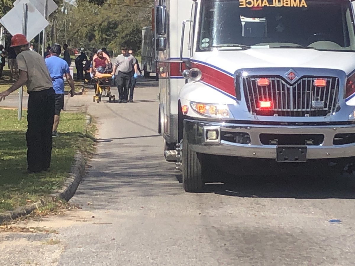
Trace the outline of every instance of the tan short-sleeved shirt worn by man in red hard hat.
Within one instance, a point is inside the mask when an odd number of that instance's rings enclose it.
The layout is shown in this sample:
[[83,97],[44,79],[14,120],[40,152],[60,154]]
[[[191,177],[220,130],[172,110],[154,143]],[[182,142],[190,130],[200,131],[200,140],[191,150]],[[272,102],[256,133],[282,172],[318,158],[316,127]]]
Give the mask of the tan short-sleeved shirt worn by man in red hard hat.
[[27,72],[27,92],[39,92],[53,86],[44,58],[31,50],[17,55],[18,69]]

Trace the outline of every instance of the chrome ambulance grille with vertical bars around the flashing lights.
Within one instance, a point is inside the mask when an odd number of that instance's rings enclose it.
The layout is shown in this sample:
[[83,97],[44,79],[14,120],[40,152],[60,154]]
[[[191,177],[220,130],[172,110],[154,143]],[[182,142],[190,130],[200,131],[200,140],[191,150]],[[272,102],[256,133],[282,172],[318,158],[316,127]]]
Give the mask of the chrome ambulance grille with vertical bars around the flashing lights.
[[[321,77],[302,77],[289,84],[281,77],[262,77],[268,86],[258,86],[261,77],[243,78],[245,100],[251,113],[262,116],[328,116],[337,112],[339,79],[323,77],[326,87],[315,87],[313,82]],[[271,101],[270,109],[260,109],[261,101]]]

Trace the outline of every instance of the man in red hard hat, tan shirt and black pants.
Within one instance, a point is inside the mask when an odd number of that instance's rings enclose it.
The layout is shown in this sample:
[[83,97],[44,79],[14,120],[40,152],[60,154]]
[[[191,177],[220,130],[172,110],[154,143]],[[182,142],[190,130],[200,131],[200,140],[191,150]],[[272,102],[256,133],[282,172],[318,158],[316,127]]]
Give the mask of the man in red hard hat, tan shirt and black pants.
[[0,93],[0,102],[23,85],[27,86],[27,164],[29,172],[47,170],[52,151],[52,127],[54,120],[55,92],[52,88],[44,58],[29,50],[29,43],[22,34],[11,38],[15,50],[20,77],[5,92]]

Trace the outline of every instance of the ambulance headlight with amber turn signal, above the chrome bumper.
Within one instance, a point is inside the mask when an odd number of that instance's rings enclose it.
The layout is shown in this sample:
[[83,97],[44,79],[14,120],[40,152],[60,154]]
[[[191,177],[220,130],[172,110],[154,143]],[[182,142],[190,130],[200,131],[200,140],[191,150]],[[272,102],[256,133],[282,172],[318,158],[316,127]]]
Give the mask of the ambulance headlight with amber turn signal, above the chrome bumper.
[[202,104],[199,102],[191,102],[191,107],[201,115],[205,115],[212,118],[229,118],[233,119],[233,115],[229,111],[226,104]]

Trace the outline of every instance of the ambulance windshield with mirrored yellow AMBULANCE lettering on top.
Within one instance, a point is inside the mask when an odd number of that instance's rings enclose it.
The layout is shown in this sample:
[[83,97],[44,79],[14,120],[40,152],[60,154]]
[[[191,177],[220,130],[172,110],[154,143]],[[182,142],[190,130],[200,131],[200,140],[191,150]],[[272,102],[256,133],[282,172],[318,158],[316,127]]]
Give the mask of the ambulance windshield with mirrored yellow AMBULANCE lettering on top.
[[353,13],[346,0],[205,0],[200,17],[198,51],[355,51]]

